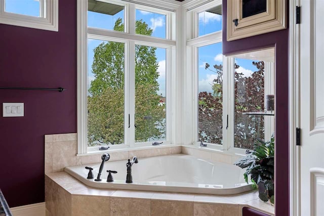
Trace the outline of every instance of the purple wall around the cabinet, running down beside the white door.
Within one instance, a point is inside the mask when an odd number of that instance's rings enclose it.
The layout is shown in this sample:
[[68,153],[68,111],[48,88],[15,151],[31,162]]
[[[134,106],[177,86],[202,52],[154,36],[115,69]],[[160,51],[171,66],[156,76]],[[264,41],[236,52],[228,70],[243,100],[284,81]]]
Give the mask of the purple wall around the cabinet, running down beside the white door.
[[275,191],[280,191],[275,196],[275,214],[289,215],[289,29],[226,41],[226,2],[223,0],[224,55],[275,47]]

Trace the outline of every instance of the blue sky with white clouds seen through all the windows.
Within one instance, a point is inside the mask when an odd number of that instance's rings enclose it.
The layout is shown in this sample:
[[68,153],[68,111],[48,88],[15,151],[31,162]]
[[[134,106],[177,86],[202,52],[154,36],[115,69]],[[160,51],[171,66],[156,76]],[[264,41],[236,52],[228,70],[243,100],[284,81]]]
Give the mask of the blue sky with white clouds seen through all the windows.
[[[24,14],[29,16],[39,16],[39,1],[37,0],[6,0],[6,12]],[[122,18],[124,22],[124,10],[111,16],[95,12],[88,12],[88,26],[112,30],[115,21]],[[166,16],[162,14],[151,13],[143,10],[136,10],[136,20],[142,19],[146,22],[155,37],[166,38]],[[222,16],[201,12],[198,14],[198,36],[216,32],[222,29]],[[93,62],[93,50],[102,40],[88,39],[88,83],[94,79],[91,73]],[[157,48],[156,57],[158,61],[158,72],[160,74],[158,82],[160,90],[158,94],[166,95],[166,50]],[[211,68],[214,64],[223,64],[222,62],[222,43],[200,47],[198,49],[198,90],[212,92],[213,79],[216,74],[210,70],[205,70],[205,63],[208,62]],[[252,65],[252,60],[235,59],[240,65],[239,72],[249,76],[256,67]]]

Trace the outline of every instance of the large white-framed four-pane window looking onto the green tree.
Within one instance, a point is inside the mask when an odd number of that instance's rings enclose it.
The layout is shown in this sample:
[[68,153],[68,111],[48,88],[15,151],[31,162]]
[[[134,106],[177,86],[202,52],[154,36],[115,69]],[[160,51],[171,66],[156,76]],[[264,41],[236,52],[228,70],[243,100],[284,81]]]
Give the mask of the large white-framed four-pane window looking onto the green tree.
[[124,1],[78,4],[78,153],[171,144],[174,12]]

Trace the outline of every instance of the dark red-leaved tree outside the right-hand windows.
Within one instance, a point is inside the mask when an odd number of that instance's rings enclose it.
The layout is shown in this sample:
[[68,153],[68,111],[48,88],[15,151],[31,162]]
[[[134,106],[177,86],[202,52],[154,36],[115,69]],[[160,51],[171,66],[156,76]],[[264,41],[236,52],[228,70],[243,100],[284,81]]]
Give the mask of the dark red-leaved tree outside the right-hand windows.
[[[235,64],[235,121],[234,146],[252,149],[257,138],[264,139],[264,117],[245,115],[242,112],[260,112],[264,108],[264,62],[252,62],[257,70],[251,76],[237,72]],[[208,143],[222,143],[222,103],[223,103],[223,66],[206,63],[206,70],[217,74],[213,80],[212,93],[200,92],[199,105],[199,140]]]

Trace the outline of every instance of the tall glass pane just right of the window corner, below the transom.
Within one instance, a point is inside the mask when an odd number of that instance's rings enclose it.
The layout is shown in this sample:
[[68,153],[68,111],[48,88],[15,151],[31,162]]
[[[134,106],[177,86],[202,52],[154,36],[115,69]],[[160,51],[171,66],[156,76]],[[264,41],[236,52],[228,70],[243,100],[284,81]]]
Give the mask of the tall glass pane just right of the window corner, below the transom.
[[223,143],[222,43],[198,48],[198,137],[199,141]]

